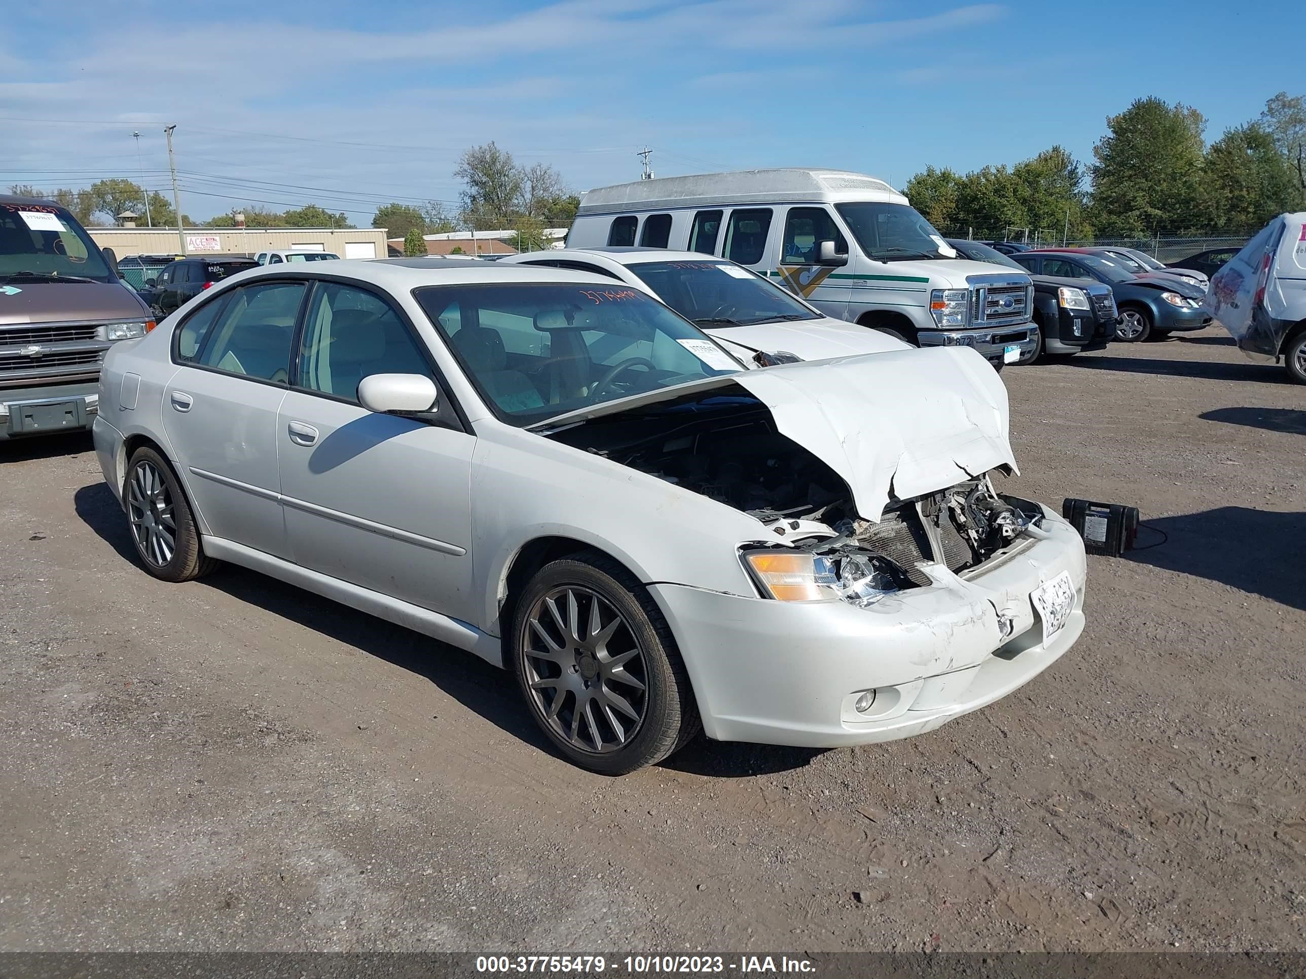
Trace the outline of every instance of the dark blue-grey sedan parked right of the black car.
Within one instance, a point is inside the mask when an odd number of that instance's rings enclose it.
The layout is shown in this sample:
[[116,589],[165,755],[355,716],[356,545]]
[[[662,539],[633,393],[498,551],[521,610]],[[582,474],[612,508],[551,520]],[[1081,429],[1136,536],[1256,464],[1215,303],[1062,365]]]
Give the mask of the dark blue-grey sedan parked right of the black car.
[[1040,275],[1096,279],[1110,286],[1121,312],[1117,341],[1161,339],[1211,325],[1211,315],[1202,308],[1205,292],[1173,275],[1134,275],[1122,262],[1080,252],[1021,252],[1012,258]]

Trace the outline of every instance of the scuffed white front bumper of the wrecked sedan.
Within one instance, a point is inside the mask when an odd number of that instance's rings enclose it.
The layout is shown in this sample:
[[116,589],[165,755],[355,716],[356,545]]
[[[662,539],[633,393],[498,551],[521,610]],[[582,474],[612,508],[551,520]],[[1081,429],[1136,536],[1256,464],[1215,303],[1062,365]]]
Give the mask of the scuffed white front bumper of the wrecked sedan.
[[[649,590],[677,636],[709,738],[836,748],[923,734],[991,704],[1083,632],[1084,546],[1047,508],[1038,536],[983,565],[961,576],[926,570],[931,585],[870,608],[667,583]],[[1030,594],[1062,572],[1075,604],[1045,641]],[[871,692],[870,709],[858,711]]]

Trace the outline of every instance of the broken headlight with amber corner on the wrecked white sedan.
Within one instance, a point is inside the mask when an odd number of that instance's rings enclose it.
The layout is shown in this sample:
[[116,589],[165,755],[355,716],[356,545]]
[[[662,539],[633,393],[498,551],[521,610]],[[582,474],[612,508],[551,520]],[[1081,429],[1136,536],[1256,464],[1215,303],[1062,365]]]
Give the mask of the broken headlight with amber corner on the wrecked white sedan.
[[842,599],[868,608],[902,589],[902,572],[880,555],[853,548],[829,553],[744,551],[743,560],[764,595],[780,602]]

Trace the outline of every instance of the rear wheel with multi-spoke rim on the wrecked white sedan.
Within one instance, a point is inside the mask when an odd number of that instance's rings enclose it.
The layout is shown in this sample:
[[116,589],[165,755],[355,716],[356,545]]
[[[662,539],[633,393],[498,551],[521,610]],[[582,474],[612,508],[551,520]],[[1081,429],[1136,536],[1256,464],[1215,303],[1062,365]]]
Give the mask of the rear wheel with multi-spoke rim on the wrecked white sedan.
[[[191,581],[218,565],[204,555],[191,503],[167,459],[154,449],[142,446],[132,453],[123,480],[123,501],[136,553],[155,578]],[[171,547],[165,543],[168,536]]]

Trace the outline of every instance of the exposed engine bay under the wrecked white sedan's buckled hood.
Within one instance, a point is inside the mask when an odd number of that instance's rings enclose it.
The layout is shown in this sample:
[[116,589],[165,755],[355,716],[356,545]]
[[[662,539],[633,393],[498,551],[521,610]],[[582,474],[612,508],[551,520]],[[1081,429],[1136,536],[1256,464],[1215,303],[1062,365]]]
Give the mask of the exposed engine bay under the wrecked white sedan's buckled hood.
[[987,475],[892,500],[879,522],[859,517],[848,484],[776,429],[751,397],[714,396],[563,428],[552,439],[631,466],[757,518],[791,551],[812,553],[846,600],[930,583],[921,564],[974,568],[1042,518],[999,495]]

